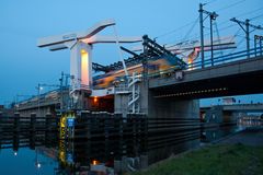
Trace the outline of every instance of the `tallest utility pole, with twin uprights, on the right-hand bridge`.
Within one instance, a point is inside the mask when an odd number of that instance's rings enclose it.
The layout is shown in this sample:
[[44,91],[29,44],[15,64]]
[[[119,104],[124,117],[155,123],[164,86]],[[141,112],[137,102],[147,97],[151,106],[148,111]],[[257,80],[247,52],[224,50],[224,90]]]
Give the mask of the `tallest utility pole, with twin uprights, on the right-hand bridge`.
[[[204,18],[203,13],[207,14],[210,18],[210,50],[211,50],[211,66],[214,66],[214,47],[213,47],[213,21],[218,18],[218,14],[216,12],[208,12],[203,9],[203,4],[199,3],[199,23],[201,23],[201,59],[202,59],[202,68],[204,68],[204,59],[205,59],[205,52],[204,52]],[[205,18],[206,19],[206,18]]]

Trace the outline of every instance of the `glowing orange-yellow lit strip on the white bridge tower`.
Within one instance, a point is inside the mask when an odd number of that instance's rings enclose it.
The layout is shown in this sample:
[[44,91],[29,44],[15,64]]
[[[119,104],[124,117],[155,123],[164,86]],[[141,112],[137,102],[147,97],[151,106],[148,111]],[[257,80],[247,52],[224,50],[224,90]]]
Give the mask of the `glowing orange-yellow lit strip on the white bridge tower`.
[[81,49],[81,84],[88,85],[89,84],[89,71],[88,71],[88,61],[89,61],[89,54]]

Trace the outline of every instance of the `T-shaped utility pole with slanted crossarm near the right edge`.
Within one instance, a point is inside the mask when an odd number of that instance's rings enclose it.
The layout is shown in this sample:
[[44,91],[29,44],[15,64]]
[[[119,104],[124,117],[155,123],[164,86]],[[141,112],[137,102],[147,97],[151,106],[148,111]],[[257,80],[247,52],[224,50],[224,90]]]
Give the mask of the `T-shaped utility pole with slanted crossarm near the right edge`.
[[[250,20],[245,20],[245,21],[240,21],[237,20],[236,18],[230,19],[230,21],[236,22],[239,24],[239,26],[243,30],[243,32],[245,33],[245,39],[247,39],[247,56],[248,58],[250,58],[250,27],[253,27],[254,30],[263,30],[262,26],[260,25],[252,25],[250,24]],[[243,27],[243,25],[245,27]]]

